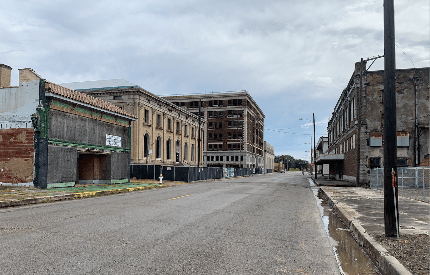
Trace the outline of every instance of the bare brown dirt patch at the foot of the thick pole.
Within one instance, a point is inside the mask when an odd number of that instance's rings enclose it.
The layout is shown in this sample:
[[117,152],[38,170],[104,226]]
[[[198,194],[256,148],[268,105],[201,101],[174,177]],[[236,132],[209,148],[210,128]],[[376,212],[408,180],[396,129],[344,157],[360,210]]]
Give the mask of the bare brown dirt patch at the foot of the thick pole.
[[414,275],[429,275],[429,236],[400,235],[399,241],[394,237],[378,236],[375,238],[388,253],[399,260]]

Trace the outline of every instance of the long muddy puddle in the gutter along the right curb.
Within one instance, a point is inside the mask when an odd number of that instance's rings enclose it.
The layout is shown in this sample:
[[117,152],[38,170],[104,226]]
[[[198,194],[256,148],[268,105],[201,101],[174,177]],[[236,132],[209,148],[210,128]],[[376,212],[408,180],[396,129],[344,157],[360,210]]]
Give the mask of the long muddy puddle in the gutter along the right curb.
[[360,248],[350,231],[344,226],[336,212],[326,203],[319,189],[313,189],[318,202],[322,222],[335,251],[342,275],[381,275],[378,269]]

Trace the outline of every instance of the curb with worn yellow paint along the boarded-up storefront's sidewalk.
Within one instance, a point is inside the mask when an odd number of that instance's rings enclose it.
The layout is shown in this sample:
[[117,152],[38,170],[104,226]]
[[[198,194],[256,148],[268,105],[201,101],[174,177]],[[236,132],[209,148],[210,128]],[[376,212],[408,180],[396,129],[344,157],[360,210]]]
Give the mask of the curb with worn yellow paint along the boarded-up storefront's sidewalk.
[[86,198],[91,196],[110,195],[110,194],[125,193],[125,192],[131,192],[131,191],[148,190],[153,188],[162,188],[167,186],[168,186],[167,184],[163,184],[163,185],[154,185],[154,186],[141,186],[141,187],[101,190],[101,191],[92,191],[92,192],[62,194],[62,195],[55,195],[55,196],[41,196],[41,197],[29,198],[29,199],[13,199],[8,201],[0,201],[0,208],[9,207],[9,206],[35,204],[35,203],[42,203],[42,202],[55,202],[55,201],[66,200],[66,199],[80,199],[80,198]]

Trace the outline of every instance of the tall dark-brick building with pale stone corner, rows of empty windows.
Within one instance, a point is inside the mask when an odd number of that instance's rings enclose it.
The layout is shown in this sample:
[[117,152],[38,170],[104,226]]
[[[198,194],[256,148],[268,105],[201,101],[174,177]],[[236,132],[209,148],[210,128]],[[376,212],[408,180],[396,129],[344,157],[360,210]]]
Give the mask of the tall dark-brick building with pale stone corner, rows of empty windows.
[[208,121],[203,161],[210,167],[264,167],[264,114],[246,91],[165,96]]

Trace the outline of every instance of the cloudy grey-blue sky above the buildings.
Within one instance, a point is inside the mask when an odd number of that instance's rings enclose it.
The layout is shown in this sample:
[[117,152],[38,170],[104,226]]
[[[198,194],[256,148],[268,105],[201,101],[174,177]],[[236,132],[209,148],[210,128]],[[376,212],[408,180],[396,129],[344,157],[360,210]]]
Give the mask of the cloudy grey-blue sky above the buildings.
[[[383,1],[1,1],[0,63],[157,95],[246,90],[276,155],[306,158],[354,63],[384,54]],[[395,0],[396,45],[429,66],[429,1]],[[396,67],[412,68],[396,49]],[[383,70],[383,58],[372,70]],[[270,129],[270,130],[269,130]],[[273,131],[277,130],[277,131]],[[283,133],[288,132],[288,133]]]

